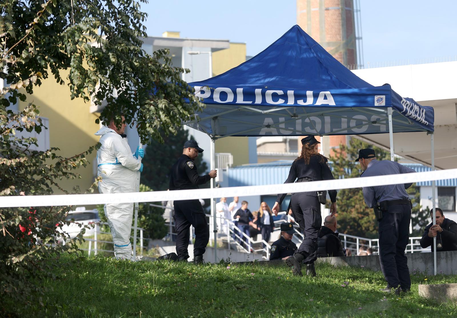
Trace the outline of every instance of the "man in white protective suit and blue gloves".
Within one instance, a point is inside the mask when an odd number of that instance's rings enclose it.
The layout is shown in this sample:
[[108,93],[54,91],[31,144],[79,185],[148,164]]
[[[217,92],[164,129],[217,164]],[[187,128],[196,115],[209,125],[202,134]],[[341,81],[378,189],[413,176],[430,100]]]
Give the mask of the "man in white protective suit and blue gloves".
[[[132,154],[128,146],[124,130],[127,125],[122,116],[122,124],[118,128],[111,120],[96,132],[100,137],[101,147],[97,151],[98,183],[100,193],[129,193],[136,191],[137,171],[143,171],[144,149]],[[132,229],[134,203],[106,203],[105,215],[114,243],[114,256],[117,259],[133,260],[130,232]]]

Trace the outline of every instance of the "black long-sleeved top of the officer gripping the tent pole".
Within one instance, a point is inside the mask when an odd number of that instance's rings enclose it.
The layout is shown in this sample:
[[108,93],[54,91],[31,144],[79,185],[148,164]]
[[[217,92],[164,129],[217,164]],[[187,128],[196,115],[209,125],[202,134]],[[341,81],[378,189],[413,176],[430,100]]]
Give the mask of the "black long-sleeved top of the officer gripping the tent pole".
[[209,174],[199,176],[195,163],[189,156],[182,154],[178,161],[171,167],[170,190],[198,189],[211,179]]

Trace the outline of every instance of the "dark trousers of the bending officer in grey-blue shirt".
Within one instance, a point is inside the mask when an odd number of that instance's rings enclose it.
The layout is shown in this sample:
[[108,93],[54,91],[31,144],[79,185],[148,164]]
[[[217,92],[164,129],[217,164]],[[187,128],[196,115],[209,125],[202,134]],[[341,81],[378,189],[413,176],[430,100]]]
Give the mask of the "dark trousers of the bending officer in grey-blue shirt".
[[408,258],[404,254],[409,241],[411,206],[395,204],[388,207],[379,221],[379,262],[388,287],[411,287]]

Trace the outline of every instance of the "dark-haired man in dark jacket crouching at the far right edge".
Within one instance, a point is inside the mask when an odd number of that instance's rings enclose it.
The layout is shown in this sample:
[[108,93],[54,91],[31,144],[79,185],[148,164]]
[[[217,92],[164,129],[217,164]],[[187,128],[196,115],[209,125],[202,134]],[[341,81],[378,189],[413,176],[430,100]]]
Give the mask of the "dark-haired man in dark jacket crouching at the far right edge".
[[[430,218],[433,216],[433,209],[430,209]],[[433,222],[425,227],[420,246],[426,248],[431,246],[431,251],[435,250],[433,238],[436,236],[436,251],[457,250],[457,223],[446,219],[443,210],[435,209],[436,224]]]

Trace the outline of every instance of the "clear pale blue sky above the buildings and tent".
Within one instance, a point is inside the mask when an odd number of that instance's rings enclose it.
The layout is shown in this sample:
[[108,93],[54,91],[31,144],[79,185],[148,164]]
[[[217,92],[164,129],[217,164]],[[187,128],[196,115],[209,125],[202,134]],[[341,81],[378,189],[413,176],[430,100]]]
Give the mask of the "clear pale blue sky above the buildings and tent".
[[[245,42],[254,56],[297,22],[295,0],[151,0],[148,35]],[[457,55],[457,1],[361,0],[365,64]]]

